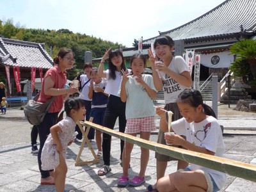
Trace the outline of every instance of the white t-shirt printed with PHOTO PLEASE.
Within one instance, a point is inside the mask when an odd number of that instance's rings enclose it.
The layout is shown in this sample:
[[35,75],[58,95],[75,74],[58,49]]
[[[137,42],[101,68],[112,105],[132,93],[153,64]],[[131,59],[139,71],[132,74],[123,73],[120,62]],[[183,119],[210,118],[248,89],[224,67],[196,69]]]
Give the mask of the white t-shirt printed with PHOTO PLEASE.
[[[181,74],[184,71],[188,71],[188,65],[181,56],[173,57],[168,68],[170,68],[170,70],[177,74]],[[177,81],[172,79],[172,77],[168,76],[167,74],[164,74],[163,72],[158,72],[158,74],[163,82],[165,104],[176,102],[179,93],[181,93],[184,89],[189,88],[177,83]]]

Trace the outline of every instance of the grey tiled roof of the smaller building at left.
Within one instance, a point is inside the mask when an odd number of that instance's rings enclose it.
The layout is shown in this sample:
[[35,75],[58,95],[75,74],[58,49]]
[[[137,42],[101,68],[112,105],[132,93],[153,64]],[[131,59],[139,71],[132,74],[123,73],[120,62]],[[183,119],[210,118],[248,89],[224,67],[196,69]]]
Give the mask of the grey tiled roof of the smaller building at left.
[[19,67],[51,68],[53,60],[42,44],[0,38],[0,61]]

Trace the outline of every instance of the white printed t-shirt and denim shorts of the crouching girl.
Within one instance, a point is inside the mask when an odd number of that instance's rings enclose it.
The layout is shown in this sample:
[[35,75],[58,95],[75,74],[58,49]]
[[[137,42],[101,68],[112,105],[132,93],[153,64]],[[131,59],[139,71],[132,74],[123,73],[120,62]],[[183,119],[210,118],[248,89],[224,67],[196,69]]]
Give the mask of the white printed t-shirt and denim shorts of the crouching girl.
[[[180,118],[172,122],[172,129],[176,134],[186,136],[189,143],[211,150],[215,156],[222,157],[225,152],[221,127],[218,120],[213,116],[208,116],[199,123],[188,123],[185,118]],[[191,170],[204,170],[204,172],[209,173],[219,189],[223,188],[227,180],[227,175],[223,172],[192,163],[189,163],[189,168]]]

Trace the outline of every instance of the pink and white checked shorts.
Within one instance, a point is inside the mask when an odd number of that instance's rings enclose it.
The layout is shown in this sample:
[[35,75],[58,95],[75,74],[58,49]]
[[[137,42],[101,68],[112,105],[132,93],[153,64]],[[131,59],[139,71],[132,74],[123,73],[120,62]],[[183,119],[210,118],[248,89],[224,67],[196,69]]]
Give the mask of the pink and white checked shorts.
[[125,133],[138,133],[141,131],[156,131],[154,116],[127,119]]

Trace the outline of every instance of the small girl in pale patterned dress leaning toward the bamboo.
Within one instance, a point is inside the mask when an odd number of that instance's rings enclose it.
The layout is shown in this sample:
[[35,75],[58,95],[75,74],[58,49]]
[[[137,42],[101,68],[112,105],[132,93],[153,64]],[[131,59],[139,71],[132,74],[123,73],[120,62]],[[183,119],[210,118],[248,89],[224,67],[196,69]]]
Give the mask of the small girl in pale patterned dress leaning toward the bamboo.
[[[56,191],[64,191],[67,164],[65,162],[68,145],[74,140],[76,122],[85,116],[82,99],[68,99],[64,104],[67,116],[50,128],[50,134],[42,150],[42,170],[54,170]],[[63,116],[61,112],[60,116]]]

